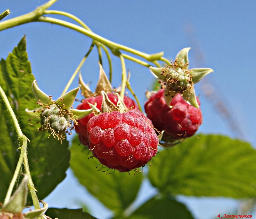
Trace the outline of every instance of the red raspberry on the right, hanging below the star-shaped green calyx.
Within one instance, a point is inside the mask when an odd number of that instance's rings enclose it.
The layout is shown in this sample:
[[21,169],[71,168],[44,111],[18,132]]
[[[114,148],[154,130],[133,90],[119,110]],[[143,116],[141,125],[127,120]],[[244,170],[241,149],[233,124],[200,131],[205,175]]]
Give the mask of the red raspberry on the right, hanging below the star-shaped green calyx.
[[[164,89],[158,90],[145,102],[145,112],[158,131],[165,130],[164,136],[173,139],[187,138],[195,134],[202,124],[200,108],[188,104],[180,94],[176,94],[171,101],[171,106],[166,105]],[[197,99],[198,104],[200,102]]]

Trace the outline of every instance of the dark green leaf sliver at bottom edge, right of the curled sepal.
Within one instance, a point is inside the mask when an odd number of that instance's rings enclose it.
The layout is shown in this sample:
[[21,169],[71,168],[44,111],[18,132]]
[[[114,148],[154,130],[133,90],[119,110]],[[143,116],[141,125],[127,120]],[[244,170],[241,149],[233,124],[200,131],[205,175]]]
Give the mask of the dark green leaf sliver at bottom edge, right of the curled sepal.
[[82,209],[48,208],[45,215],[50,218],[58,219],[97,219],[88,213],[83,212]]

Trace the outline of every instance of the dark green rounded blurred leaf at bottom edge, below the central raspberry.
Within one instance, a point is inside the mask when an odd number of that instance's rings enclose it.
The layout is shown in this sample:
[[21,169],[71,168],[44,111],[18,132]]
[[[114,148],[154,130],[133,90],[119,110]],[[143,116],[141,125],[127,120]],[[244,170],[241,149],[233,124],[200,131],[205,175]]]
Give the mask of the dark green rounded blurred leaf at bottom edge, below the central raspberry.
[[129,219],[155,218],[193,219],[185,205],[167,197],[154,197],[129,216]]

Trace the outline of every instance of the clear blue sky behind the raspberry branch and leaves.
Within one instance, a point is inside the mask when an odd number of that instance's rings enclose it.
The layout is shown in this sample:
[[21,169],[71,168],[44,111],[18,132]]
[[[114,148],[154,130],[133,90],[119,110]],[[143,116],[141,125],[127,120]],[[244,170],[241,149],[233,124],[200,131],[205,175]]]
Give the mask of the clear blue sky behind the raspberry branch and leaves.
[[[11,14],[5,18],[10,19],[32,11],[45,2],[2,0],[1,10],[10,8]],[[149,54],[164,51],[164,57],[175,59],[182,48],[191,47],[190,68],[214,70],[195,88],[196,94],[200,94],[204,115],[199,132],[243,138],[255,146],[255,8],[255,1],[73,0],[71,3],[59,0],[50,9],[74,14],[100,36]],[[0,57],[6,58],[24,34],[33,74],[40,88],[57,98],[88,50],[91,39],[57,25],[30,23],[0,32]],[[95,49],[81,69],[84,81],[91,82],[92,89],[99,73],[97,60]],[[120,61],[115,56],[112,56],[112,61],[113,85],[118,86],[121,82]],[[103,68],[108,72],[106,59],[103,60]],[[150,88],[153,76],[147,68],[137,63],[126,61],[126,68],[131,71],[134,91],[140,102],[144,103],[144,93]],[[72,89],[77,82],[78,79],[72,83]],[[214,98],[205,96],[202,87],[208,88],[208,91],[212,87]],[[220,108],[221,103],[224,108]],[[224,110],[229,113],[228,118],[223,117]],[[230,129],[230,126],[234,129],[235,125],[239,131]],[[77,183],[71,171],[68,171],[67,178],[47,201],[57,206],[54,196],[61,194],[62,189],[71,182]],[[75,192],[86,193],[79,186]],[[75,199],[72,193],[70,200]],[[237,206],[237,202],[231,199],[181,199],[188,203],[198,218],[210,218],[215,213],[218,215]],[[209,217],[200,209],[208,201],[208,205],[213,207]],[[67,205],[65,201],[58,204],[59,207]],[[95,216],[103,218],[102,215]]]

